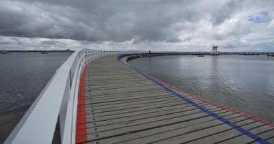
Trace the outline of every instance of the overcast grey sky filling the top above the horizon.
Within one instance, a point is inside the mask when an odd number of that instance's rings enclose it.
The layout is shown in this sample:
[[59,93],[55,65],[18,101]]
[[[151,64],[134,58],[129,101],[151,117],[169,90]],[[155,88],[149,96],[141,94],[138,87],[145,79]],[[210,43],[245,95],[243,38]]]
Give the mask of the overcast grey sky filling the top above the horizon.
[[274,51],[273,0],[1,0],[0,49]]

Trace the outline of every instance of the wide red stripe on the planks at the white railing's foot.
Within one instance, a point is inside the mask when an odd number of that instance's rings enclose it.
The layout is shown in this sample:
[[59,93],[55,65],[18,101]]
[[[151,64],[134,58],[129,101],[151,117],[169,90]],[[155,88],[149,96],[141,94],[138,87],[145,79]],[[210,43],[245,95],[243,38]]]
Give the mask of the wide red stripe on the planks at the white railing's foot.
[[86,70],[88,65],[85,66],[82,77],[79,83],[78,105],[77,105],[77,124],[76,124],[76,143],[85,143],[88,138],[86,136],[86,106],[85,106],[85,81]]

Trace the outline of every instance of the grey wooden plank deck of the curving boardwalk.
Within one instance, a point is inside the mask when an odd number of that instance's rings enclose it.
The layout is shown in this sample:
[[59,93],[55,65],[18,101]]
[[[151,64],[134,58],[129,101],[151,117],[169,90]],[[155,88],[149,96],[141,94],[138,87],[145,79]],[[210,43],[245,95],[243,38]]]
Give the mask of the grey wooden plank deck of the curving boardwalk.
[[77,143],[274,143],[267,121],[154,83],[116,56],[96,59],[84,76]]

